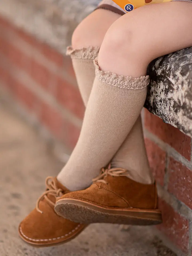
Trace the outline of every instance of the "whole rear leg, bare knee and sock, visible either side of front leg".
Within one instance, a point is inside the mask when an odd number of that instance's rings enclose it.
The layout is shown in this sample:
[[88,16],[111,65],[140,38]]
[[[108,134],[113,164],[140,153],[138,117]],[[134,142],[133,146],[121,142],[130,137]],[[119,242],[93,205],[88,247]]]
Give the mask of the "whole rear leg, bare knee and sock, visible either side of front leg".
[[[85,106],[95,78],[93,60],[98,55],[99,47],[108,27],[119,17],[120,15],[112,11],[96,10],[85,18],[73,33],[73,48],[69,47],[67,52],[72,58],[79,90]],[[102,22],[102,26],[99,25],[100,22]],[[140,161],[135,161],[135,152],[137,152]],[[119,164],[119,167],[126,164],[127,169],[133,170],[133,179],[145,183],[153,182],[143,140],[141,118],[138,118],[130,135],[127,136],[125,142],[112,159],[111,166],[117,166],[117,164]],[[141,170],[142,177],[138,175]],[[61,172],[59,180],[62,181],[64,179],[65,173]],[[84,188],[84,179],[81,182],[82,188]]]

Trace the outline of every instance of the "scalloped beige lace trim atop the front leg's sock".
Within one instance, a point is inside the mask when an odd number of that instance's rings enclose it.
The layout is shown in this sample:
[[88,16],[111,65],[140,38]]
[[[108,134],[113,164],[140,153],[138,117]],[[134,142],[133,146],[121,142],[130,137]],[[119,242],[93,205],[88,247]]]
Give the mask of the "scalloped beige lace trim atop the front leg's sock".
[[98,79],[109,85],[127,88],[127,89],[142,89],[149,84],[149,76],[142,76],[139,78],[125,77],[123,75],[116,75],[109,71],[103,72],[98,66],[97,58],[94,60],[95,74]]

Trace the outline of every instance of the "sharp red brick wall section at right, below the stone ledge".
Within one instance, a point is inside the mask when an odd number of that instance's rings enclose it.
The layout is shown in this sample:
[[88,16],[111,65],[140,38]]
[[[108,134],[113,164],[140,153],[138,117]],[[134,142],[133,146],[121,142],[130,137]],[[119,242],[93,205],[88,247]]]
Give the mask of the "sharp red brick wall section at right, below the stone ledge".
[[[157,226],[184,255],[191,251],[191,138],[145,110],[147,155],[158,183],[163,224]],[[189,254],[190,253],[190,254]]]

